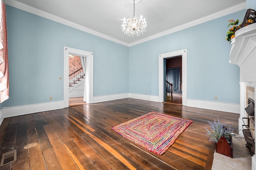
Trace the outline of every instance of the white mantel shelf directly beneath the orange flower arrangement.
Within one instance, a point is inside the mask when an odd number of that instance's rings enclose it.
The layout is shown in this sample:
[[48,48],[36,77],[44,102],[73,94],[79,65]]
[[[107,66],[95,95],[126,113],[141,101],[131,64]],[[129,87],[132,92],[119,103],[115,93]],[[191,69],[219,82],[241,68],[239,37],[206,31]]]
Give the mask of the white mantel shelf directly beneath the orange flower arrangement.
[[242,27],[231,39],[230,63],[241,66],[256,49],[256,23]]

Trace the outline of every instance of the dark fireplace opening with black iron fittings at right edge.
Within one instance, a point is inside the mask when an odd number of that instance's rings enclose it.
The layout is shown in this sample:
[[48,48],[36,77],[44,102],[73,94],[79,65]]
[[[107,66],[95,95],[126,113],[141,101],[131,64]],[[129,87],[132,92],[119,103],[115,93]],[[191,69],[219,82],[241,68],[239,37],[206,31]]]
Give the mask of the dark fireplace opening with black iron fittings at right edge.
[[[255,122],[254,122],[254,100],[248,98],[248,106],[245,108],[247,117],[243,117],[244,125],[243,134],[246,141],[246,147],[249,149],[252,156],[255,154]],[[245,129],[244,129],[245,128]]]

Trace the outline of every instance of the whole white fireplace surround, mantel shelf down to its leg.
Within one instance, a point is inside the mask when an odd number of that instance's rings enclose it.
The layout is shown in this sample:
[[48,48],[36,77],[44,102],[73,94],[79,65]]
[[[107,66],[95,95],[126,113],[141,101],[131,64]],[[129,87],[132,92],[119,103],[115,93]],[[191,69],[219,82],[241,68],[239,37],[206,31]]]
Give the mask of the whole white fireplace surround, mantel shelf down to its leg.
[[[247,117],[245,108],[248,100],[248,88],[256,87],[256,23],[242,27],[235,33],[231,40],[230,63],[237,64],[240,67],[240,118],[239,118],[239,135],[242,133],[243,117]],[[247,91],[246,91],[247,89]],[[255,101],[255,93],[250,93],[250,98]],[[254,118],[255,122],[255,118]],[[255,135],[255,131],[254,131]],[[255,149],[254,149],[255,153]],[[256,156],[252,156],[252,169],[256,169]]]

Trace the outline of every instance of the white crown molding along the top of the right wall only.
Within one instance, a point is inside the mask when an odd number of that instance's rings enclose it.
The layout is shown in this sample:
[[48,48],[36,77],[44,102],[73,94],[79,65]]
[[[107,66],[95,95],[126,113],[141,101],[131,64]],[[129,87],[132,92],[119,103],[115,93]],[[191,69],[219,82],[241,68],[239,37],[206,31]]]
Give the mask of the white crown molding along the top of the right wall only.
[[152,36],[149,36],[149,37],[146,37],[144,39],[140,39],[138,41],[135,41],[133,43],[130,43],[128,47],[132,47],[134,45],[137,45],[137,44],[140,44],[140,43],[144,43],[146,41],[150,41],[152,39],[156,39],[158,37],[162,37],[164,35],[168,35],[170,33],[174,33],[174,32],[177,32],[177,31],[180,31],[182,29],[186,29],[186,28],[189,28],[189,27],[192,27],[192,26],[195,26],[195,25],[198,25],[200,23],[204,23],[204,22],[207,22],[207,21],[210,21],[210,20],[214,20],[216,18],[220,18],[222,16],[226,16],[228,14],[232,14],[234,12],[238,12],[240,10],[244,10],[246,9],[246,2],[242,2],[240,4],[237,4],[235,6],[232,6],[230,8],[227,8],[225,10],[221,10],[219,12],[216,12],[214,14],[211,14],[211,15],[208,15],[208,16],[205,16],[205,17],[202,17],[202,18],[199,18],[197,20],[194,20],[194,21],[190,21],[188,23],[184,23],[182,25],[179,25],[177,27],[174,27],[172,29],[168,29],[166,31],[162,31],[160,33],[157,33],[155,35],[152,35]]

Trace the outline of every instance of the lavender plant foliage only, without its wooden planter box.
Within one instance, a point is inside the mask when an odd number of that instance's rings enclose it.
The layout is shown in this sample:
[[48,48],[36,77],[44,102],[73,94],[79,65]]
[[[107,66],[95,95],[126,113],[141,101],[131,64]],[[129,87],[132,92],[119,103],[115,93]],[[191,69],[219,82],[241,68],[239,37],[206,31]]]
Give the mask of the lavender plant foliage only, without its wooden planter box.
[[208,123],[210,124],[209,127],[211,130],[207,129],[206,127],[204,127],[204,128],[207,131],[206,135],[208,135],[210,138],[209,141],[218,143],[218,141],[220,140],[220,138],[222,136],[224,136],[226,139],[229,139],[230,137],[232,137],[232,133],[233,133],[234,129],[231,129],[230,125],[227,128],[226,124],[222,123],[219,118],[218,118],[218,121],[216,121],[214,119],[214,122],[208,121]]

